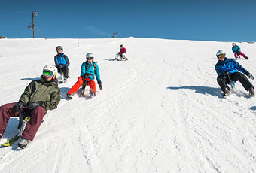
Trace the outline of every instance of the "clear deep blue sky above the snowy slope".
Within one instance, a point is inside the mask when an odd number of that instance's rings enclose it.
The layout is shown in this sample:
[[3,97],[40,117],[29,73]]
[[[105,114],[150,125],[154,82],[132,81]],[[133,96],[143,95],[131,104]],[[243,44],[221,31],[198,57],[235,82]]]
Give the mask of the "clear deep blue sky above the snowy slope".
[[[32,38],[35,26],[46,38],[166,38],[200,41],[256,41],[255,0],[2,0],[0,35]],[[35,37],[42,38],[35,30]]]

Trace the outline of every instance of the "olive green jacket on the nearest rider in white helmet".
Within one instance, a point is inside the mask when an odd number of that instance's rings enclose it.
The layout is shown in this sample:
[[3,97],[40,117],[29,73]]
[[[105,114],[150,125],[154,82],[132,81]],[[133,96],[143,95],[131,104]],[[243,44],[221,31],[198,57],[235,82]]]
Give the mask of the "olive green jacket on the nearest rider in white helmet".
[[56,80],[47,82],[43,76],[40,80],[33,80],[26,86],[24,93],[20,96],[20,101],[24,106],[30,102],[42,102],[41,105],[46,111],[57,108],[60,101],[60,90]]

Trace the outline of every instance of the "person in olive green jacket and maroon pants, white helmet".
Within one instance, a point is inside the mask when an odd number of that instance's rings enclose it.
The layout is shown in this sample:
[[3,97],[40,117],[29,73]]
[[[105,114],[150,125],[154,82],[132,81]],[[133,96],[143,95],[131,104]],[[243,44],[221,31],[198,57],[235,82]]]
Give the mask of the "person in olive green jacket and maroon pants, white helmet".
[[29,141],[35,138],[44,115],[48,110],[57,108],[60,101],[60,90],[56,80],[57,69],[54,65],[46,65],[43,75],[38,80],[32,80],[19,102],[8,103],[0,107],[0,139],[5,133],[10,117],[19,117],[19,111],[30,115],[29,122],[22,132],[18,147],[25,148]]

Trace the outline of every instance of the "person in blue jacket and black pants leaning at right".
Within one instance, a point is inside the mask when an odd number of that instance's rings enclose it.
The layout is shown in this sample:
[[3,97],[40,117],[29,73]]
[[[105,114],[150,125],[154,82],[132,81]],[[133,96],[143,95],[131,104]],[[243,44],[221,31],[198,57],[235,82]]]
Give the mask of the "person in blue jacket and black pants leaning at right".
[[223,50],[218,50],[216,56],[218,58],[218,62],[215,65],[215,70],[218,74],[217,82],[218,85],[221,86],[221,90],[224,92],[223,96],[230,94],[230,87],[227,85],[227,83],[230,83],[230,80],[239,81],[242,83],[245,90],[249,91],[249,96],[254,96],[254,86],[248,80],[248,78],[253,80],[254,77],[249,73],[249,71],[245,70],[245,68],[243,68],[242,65],[239,65],[239,63],[234,59],[227,59],[226,53],[224,53]]

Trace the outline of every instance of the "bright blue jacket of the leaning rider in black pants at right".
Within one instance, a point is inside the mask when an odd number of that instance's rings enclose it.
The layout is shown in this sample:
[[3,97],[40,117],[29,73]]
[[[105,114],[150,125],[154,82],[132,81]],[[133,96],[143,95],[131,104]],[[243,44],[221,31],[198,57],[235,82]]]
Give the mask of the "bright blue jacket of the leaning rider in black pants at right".
[[215,65],[215,70],[218,75],[223,74],[224,71],[229,71],[230,74],[238,71],[241,71],[244,74],[248,72],[242,67],[242,65],[239,65],[237,61],[227,58],[225,58],[224,61],[218,60],[217,64]]

